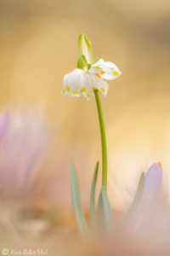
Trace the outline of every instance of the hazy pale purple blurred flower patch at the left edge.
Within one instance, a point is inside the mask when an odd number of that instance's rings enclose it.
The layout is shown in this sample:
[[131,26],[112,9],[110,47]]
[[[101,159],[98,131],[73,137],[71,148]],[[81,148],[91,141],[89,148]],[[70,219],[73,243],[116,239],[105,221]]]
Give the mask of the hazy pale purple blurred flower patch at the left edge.
[[[35,113],[4,113],[0,119],[0,191],[3,197],[24,198],[35,190],[31,178],[47,149],[48,131]],[[34,171],[34,172],[33,172]]]

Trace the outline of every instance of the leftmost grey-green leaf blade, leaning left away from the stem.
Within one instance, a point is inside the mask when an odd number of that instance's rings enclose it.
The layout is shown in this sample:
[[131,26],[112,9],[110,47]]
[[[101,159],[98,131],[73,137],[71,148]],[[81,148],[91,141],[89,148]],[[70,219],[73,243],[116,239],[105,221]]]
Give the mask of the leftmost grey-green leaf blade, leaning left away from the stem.
[[75,166],[73,164],[70,165],[70,170],[71,170],[72,207],[73,207],[75,217],[77,220],[77,225],[82,234],[82,237],[86,238],[86,236],[88,235],[88,225],[86,223],[86,219],[85,219],[84,213],[82,211],[82,203],[81,203],[81,199],[80,199],[77,172],[76,172]]

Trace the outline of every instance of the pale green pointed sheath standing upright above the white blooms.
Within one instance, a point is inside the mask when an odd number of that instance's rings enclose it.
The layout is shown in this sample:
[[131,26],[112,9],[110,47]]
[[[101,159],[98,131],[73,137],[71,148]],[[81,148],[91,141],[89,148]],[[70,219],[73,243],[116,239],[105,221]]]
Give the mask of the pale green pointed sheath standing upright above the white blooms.
[[92,45],[84,33],[81,33],[78,38],[78,46],[79,46],[81,55],[84,55],[86,57],[88,64],[93,64],[94,55],[92,51]]

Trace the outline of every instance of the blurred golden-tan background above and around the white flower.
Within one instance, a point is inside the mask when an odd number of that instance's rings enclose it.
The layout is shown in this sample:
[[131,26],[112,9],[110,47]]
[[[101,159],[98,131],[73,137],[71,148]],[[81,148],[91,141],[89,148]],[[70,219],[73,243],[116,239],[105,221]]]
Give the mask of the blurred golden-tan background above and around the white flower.
[[58,193],[54,201],[59,207],[70,207],[68,164],[74,161],[77,166],[87,204],[100,159],[94,99],[60,95],[63,76],[77,64],[80,32],[93,42],[96,60],[113,61],[122,70],[102,99],[112,205],[126,207],[139,172],[157,160],[168,189],[169,16],[168,0],[0,0],[0,108],[35,109],[52,127],[50,154],[53,159],[56,155],[59,166],[48,187]]

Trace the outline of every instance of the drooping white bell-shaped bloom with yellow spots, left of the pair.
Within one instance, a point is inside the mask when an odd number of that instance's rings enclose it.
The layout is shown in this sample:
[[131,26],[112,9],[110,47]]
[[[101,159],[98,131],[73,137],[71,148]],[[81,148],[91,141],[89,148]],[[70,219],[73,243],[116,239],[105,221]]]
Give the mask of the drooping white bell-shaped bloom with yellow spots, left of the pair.
[[89,83],[90,75],[82,69],[75,69],[64,77],[64,95],[87,96],[88,91],[92,89]]

